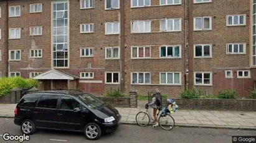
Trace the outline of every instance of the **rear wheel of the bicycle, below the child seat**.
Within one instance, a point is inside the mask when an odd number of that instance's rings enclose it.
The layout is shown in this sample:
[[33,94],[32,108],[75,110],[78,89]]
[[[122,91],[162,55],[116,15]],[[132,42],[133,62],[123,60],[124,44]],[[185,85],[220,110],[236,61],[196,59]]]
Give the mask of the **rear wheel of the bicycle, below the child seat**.
[[160,116],[159,117],[159,125],[161,128],[165,130],[171,130],[174,128],[175,121],[173,116],[171,115],[166,115],[166,116]]

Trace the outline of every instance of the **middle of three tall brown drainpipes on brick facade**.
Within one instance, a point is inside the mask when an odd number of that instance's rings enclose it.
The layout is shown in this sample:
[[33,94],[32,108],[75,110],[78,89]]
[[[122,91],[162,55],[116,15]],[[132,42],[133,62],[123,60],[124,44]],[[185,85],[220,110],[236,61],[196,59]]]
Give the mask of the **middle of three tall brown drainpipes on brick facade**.
[[125,1],[120,1],[120,90],[125,92]]

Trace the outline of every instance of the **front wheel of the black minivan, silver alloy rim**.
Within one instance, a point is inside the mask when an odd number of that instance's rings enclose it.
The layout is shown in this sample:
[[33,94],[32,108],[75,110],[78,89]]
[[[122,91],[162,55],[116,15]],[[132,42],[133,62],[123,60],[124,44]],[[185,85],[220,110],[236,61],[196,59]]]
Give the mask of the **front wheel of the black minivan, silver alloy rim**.
[[83,129],[83,133],[85,134],[87,139],[96,140],[96,139],[100,138],[100,136],[102,134],[102,130],[100,129],[100,126],[98,126],[98,124],[88,123],[85,126],[85,129]]

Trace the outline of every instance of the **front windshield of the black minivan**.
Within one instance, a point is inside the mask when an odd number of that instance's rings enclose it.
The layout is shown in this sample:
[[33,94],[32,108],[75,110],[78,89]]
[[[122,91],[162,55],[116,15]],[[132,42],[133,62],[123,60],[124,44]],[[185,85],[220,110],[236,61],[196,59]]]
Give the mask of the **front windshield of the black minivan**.
[[98,98],[88,93],[78,95],[77,98],[79,98],[83,103],[87,104],[90,108],[99,108],[100,106],[105,105],[104,102],[98,100]]

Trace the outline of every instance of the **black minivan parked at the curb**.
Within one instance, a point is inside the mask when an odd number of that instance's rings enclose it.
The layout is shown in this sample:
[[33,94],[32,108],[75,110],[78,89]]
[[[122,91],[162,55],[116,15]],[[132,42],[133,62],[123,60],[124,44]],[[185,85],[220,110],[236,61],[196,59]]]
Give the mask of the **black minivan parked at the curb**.
[[14,113],[14,123],[24,134],[32,134],[36,128],[81,131],[90,140],[115,131],[121,119],[113,106],[77,90],[27,93]]

